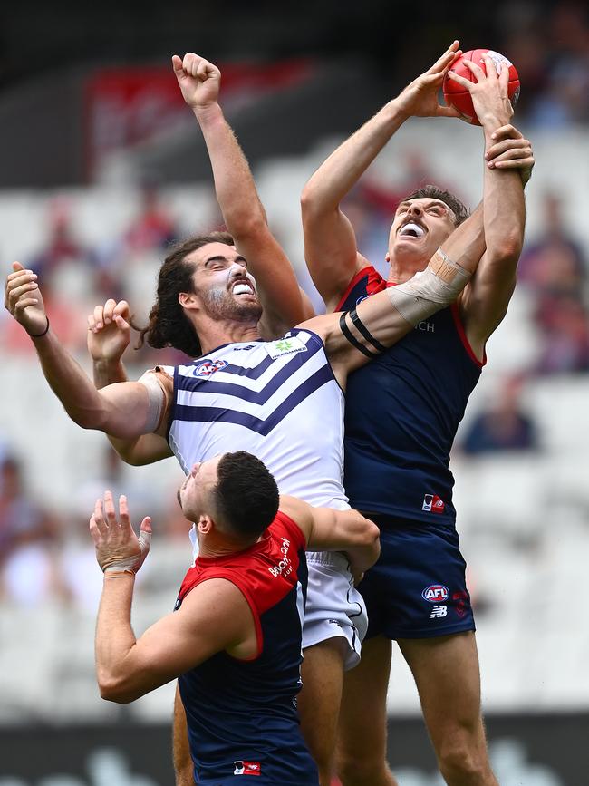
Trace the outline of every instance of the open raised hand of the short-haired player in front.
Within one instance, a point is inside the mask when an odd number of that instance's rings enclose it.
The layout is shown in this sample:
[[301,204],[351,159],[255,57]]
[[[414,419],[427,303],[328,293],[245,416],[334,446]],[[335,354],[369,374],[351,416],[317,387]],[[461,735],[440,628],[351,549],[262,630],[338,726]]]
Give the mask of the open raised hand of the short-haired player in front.
[[114,509],[111,491],[104,492],[104,500],[96,500],[90,519],[90,534],[96,548],[96,560],[104,573],[137,573],[148,556],[151,543],[151,519],[141,521],[140,536],[130,523],[127,498],[119,498],[119,519]]

